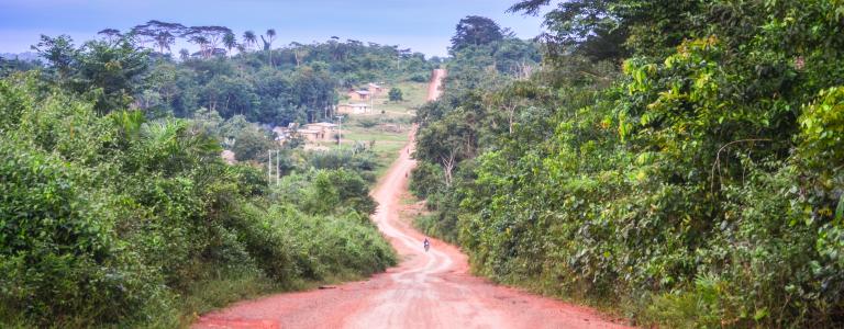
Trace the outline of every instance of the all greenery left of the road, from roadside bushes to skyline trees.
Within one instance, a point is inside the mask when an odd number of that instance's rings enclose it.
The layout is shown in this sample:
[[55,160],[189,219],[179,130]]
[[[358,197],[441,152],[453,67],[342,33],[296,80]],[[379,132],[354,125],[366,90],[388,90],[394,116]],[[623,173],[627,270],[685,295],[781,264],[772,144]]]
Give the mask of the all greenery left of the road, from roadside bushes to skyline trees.
[[[337,91],[369,81],[419,89],[436,61],[355,41],[253,49],[255,35],[227,56],[208,41],[227,29],[160,24],[0,60],[0,327],[185,327],[396,263],[369,220],[382,146],[311,151],[267,127],[331,120]],[[176,57],[144,29],[202,50]]]

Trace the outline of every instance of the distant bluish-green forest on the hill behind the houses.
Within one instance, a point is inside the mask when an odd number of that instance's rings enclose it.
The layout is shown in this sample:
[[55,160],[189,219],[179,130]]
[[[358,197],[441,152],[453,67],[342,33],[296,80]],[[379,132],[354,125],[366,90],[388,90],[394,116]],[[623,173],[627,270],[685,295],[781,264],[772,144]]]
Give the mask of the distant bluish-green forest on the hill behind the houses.
[[[337,90],[367,82],[427,81],[443,59],[409,48],[340,41],[274,47],[276,32],[185,26],[152,20],[125,33],[104,29],[75,45],[42,35],[32,49],[46,63],[0,59],[0,75],[43,67],[64,88],[97,95],[97,111],[143,110],[149,117],[191,117],[199,109],[223,118],[285,126],[333,115]],[[200,48],[173,52],[177,42]],[[263,45],[258,45],[258,42]]]

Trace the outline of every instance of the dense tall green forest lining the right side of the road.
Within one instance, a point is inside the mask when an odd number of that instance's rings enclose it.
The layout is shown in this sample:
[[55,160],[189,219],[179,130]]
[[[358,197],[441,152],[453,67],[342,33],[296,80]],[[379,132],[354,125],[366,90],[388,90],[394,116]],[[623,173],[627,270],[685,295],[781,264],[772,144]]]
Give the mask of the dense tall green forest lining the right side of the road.
[[427,234],[496,282],[651,327],[844,324],[844,2],[522,0],[420,109]]

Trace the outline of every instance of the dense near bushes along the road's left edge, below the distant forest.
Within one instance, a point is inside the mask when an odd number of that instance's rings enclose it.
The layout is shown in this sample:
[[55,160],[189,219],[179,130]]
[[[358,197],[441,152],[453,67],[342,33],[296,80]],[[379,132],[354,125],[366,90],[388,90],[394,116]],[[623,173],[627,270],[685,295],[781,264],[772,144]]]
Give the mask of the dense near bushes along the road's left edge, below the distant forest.
[[332,197],[306,214],[191,122],[93,109],[36,73],[0,80],[0,326],[185,326],[395,263],[355,169],[302,181]]

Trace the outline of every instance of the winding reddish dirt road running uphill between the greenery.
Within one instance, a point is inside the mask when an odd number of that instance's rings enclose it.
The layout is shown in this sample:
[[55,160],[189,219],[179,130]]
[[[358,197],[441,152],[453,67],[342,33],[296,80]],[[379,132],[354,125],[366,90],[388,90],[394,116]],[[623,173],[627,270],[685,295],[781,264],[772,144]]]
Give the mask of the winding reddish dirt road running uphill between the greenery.
[[[429,99],[444,75],[434,71]],[[371,192],[379,204],[373,220],[398,251],[398,266],[363,282],[242,302],[203,315],[195,328],[624,328],[589,308],[473,276],[466,256],[447,243],[432,239],[425,252],[424,236],[399,218],[412,145]]]

